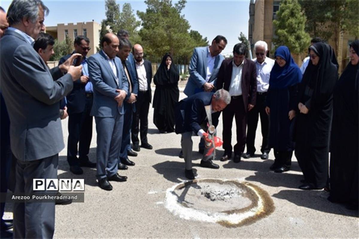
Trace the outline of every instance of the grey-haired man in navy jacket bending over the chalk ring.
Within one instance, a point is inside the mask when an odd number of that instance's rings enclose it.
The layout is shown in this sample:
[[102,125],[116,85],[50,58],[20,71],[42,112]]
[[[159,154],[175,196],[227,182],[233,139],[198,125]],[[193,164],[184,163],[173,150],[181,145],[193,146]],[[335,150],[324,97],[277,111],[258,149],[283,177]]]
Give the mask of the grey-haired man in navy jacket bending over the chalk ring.
[[[188,179],[194,179],[192,171],[192,135],[202,137],[207,143],[209,135],[205,132],[207,113],[205,106],[210,106],[211,117],[218,120],[215,112],[222,111],[230,103],[230,96],[227,90],[220,89],[213,92],[200,92],[181,100],[175,109],[176,133],[181,133],[181,147],[186,162],[185,175]],[[218,122],[212,122],[215,125]],[[206,151],[206,150],[205,150]],[[219,165],[214,164],[209,157],[204,156],[201,160],[201,167],[218,169]]]

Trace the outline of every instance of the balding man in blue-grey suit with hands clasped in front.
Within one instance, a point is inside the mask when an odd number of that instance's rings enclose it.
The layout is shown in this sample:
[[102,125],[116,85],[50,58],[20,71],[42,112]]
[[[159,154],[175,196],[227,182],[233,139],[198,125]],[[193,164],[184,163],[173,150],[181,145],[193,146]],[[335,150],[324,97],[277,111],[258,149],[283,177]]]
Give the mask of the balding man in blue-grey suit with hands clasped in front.
[[129,90],[125,71],[116,54],[119,40],[107,33],[101,39],[102,51],[88,59],[89,78],[93,84],[91,115],[97,131],[97,180],[100,188],[112,190],[108,181],[126,181],[117,173],[123,128],[123,100]]

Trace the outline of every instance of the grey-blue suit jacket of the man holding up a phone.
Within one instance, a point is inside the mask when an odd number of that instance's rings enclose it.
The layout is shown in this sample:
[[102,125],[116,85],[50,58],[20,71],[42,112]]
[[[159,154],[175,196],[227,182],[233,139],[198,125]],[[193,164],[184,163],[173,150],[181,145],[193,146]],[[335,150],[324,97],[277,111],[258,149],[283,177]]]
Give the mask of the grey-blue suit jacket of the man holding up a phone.
[[[59,101],[73,88],[70,74],[53,81],[27,40],[6,30],[0,44],[1,93],[10,118],[11,151],[21,161],[58,154],[64,147]],[[9,57],[11,56],[11,57]]]

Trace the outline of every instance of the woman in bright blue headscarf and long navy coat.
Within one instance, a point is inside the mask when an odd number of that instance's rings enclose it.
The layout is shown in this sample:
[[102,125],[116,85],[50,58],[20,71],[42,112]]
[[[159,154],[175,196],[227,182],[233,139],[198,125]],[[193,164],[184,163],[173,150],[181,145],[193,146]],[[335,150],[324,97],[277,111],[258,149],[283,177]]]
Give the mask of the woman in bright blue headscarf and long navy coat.
[[274,56],[266,102],[266,112],[270,117],[269,147],[274,148],[275,157],[270,169],[283,173],[292,164],[294,117],[302,73],[288,47],[278,47]]

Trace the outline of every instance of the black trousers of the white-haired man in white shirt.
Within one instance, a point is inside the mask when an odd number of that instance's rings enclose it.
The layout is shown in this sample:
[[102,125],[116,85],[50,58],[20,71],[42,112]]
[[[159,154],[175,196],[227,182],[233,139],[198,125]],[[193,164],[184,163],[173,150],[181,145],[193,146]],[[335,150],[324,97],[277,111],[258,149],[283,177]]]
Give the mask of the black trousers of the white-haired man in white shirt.
[[258,114],[261,118],[261,130],[262,130],[262,153],[269,153],[270,148],[268,147],[269,137],[269,116],[267,115],[266,108],[266,97],[267,92],[257,92],[256,105],[248,112],[248,128],[247,128],[247,153],[254,154],[256,147],[254,142],[256,139],[256,131],[258,125]]

